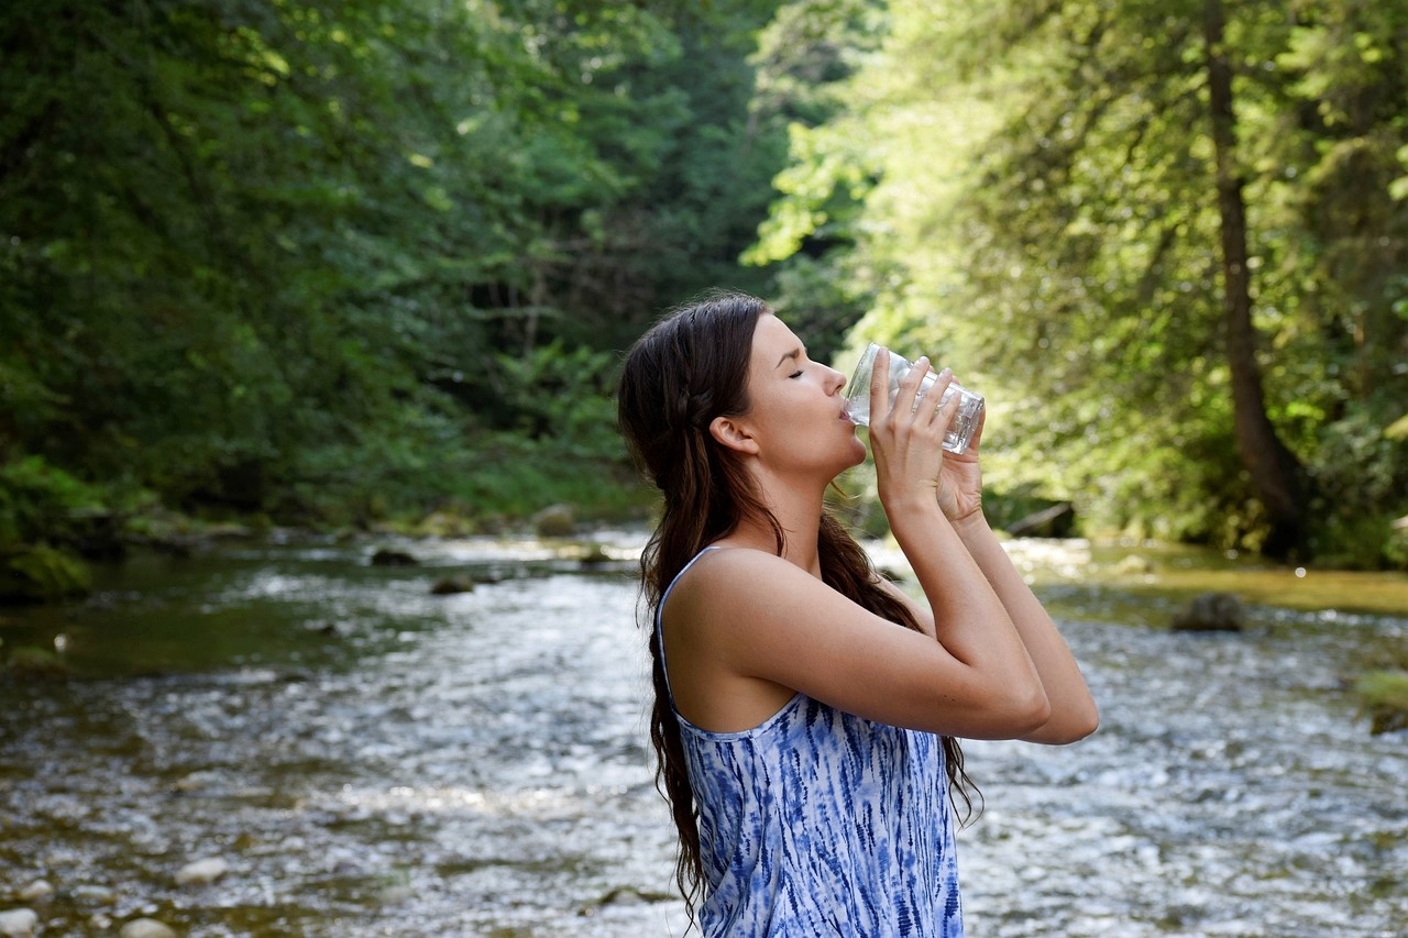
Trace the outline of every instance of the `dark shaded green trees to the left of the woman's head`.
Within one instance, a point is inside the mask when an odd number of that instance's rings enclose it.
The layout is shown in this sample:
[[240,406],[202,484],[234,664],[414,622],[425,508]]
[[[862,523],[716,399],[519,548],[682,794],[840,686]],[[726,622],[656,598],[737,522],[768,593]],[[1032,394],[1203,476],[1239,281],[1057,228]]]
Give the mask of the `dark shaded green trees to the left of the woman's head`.
[[538,476],[590,504],[624,463],[608,352],[767,280],[736,256],[784,155],[748,110],[774,7],[7,14],[0,538],[142,493],[370,523]]

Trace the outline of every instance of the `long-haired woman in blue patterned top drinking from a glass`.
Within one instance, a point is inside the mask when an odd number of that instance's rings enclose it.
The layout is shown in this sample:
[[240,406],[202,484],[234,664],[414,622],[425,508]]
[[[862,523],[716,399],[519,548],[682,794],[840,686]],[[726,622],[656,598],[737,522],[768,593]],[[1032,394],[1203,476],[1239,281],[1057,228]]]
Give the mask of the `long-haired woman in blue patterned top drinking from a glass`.
[[[887,352],[881,352],[887,356]],[[919,359],[870,390],[880,503],[926,604],[877,576],[822,496],[866,449],[845,376],[767,306],[717,293],[643,335],[622,432],[665,496],[642,556],[652,741],[677,879],[705,937],[963,934],[956,737],[1071,742],[1095,706],[993,537],[979,448],[941,448]],[[898,625],[898,627],[897,627]],[[696,900],[698,904],[696,906]]]

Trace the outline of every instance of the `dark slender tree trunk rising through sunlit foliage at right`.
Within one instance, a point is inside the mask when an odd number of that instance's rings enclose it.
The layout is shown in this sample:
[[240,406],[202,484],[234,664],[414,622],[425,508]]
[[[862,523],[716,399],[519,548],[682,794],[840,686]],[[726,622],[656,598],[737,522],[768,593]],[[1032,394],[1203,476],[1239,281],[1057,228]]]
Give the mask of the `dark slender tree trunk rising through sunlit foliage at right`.
[[1269,514],[1271,531],[1262,549],[1276,558],[1298,554],[1305,544],[1305,472],[1266,414],[1262,369],[1252,327],[1250,272],[1246,265],[1246,201],[1236,166],[1236,117],[1232,110],[1232,66],[1224,48],[1222,0],[1207,0],[1208,97],[1217,152],[1218,213],[1222,220],[1222,328],[1232,375],[1232,413],[1238,452],[1252,487]]

